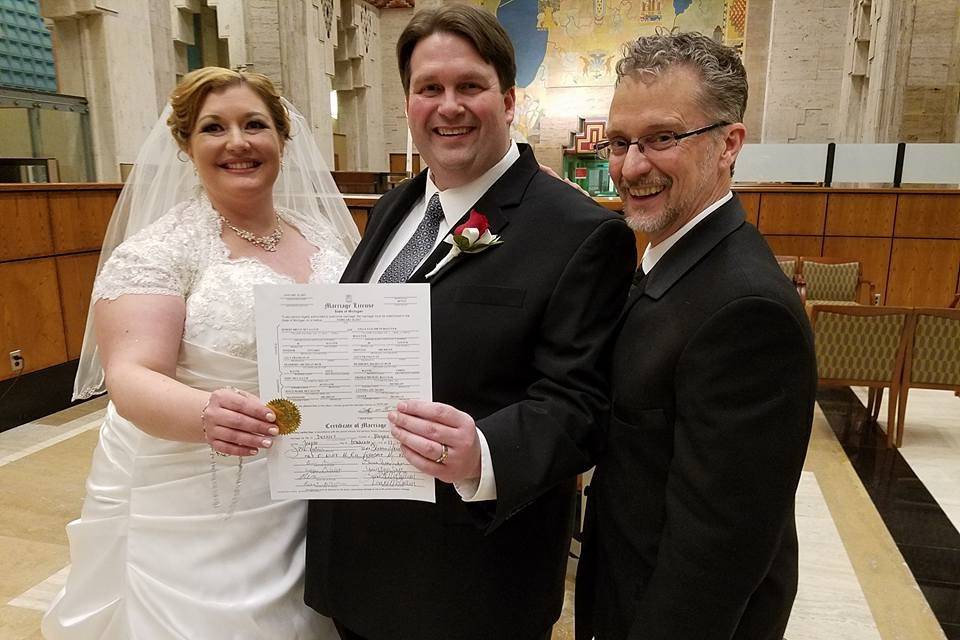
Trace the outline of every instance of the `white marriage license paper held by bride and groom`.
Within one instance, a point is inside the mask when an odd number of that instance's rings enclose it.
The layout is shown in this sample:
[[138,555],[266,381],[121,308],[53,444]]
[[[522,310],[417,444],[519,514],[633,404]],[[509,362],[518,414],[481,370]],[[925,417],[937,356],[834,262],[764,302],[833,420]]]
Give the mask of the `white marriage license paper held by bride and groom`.
[[435,502],[387,423],[400,400],[432,397],[429,285],[269,285],[255,299],[260,398],[302,417],[268,450],[272,497]]

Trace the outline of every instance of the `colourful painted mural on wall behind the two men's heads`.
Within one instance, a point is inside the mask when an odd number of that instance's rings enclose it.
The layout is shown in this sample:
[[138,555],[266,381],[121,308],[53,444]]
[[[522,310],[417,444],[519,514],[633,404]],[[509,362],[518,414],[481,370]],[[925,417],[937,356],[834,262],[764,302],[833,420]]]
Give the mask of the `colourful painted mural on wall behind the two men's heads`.
[[[610,88],[624,42],[640,35],[699,31],[742,49],[747,0],[475,0],[496,14],[517,54],[514,128],[540,139],[549,89]],[[564,111],[575,105],[566,104]],[[591,115],[591,114],[578,114]]]

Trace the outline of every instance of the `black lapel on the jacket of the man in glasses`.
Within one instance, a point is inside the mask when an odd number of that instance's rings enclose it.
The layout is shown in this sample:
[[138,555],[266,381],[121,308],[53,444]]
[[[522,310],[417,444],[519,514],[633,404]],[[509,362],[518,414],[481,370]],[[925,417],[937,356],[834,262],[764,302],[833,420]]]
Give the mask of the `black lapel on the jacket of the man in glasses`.
[[643,297],[659,300],[680,278],[745,224],[745,214],[736,194],[688,231],[660,258],[657,265],[630,290],[627,308]]

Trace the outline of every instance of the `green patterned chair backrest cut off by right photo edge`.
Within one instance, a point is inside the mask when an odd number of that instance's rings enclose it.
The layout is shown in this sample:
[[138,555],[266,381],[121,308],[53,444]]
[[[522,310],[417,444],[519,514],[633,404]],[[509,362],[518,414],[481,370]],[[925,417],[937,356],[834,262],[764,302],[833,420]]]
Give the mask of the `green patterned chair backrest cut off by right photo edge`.
[[910,381],[960,386],[960,319],[917,316]]

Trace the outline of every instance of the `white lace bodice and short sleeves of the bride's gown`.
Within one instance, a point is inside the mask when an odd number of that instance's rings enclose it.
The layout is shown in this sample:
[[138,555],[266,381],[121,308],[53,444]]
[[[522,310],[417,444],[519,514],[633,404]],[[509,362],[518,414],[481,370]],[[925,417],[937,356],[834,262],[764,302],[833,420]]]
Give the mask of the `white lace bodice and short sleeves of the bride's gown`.
[[[349,256],[333,230],[293,211],[277,212],[317,247],[310,282],[337,282]],[[219,214],[206,196],[178,204],[114,250],[97,276],[93,301],[125,294],[181,296],[187,307],[184,340],[256,359],[253,287],[294,280],[256,258],[231,258],[220,234]]]

